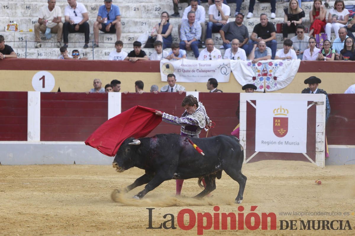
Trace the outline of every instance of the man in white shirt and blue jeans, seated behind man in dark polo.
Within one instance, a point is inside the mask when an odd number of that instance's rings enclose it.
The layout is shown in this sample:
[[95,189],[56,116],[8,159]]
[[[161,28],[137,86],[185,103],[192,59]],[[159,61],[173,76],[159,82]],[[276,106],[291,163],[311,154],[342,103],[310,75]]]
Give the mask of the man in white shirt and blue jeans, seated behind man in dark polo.
[[215,0],[214,4],[208,8],[208,20],[206,38],[212,38],[212,33],[218,33],[223,25],[228,23],[230,7],[223,0]]

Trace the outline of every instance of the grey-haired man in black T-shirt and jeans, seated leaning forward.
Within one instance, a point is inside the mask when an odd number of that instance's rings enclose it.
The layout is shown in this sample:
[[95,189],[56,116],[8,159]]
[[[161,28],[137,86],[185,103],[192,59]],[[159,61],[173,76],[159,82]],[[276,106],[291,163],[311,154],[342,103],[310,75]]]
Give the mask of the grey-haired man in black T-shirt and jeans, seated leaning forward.
[[253,44],[257,44],[260,40],[263,40],[266,42],[266,46],[271,48],[271,58],[275,58],[277,50],[276,29],[274,24],[269,22],[266,14],[262,13],[260,15],[260,23],[255,25],[250,38],[249,48],[252,48]]

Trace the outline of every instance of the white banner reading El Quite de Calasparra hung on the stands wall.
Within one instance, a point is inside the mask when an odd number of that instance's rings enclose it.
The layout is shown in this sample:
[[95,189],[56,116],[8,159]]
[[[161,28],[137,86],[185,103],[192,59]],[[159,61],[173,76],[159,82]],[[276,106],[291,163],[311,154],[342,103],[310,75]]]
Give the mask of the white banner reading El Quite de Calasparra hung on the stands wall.
[[230,77],[229,59],[197,61],[181,59],[160,61],[160,75],[166,81],[168,74],[174,74],[178,82],[207,82],[215,78],[218,82],[228,82]]

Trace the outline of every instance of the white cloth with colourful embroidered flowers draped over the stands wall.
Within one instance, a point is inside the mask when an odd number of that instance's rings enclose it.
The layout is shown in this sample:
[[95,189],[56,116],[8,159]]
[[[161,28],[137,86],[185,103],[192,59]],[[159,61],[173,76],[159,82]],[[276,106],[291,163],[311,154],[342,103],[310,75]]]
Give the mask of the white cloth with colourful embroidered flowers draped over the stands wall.
[[297,60],[264,60],[257,63],[251,61],[231,60],[230,67],[235,79],[241,86],[253,84],[257,91],[277,91],[288,86],[294,79],[301,61]]

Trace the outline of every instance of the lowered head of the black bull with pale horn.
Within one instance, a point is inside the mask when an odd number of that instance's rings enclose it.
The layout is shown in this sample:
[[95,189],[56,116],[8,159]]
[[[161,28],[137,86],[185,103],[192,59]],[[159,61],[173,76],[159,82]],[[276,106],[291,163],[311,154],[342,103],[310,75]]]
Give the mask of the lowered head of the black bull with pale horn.
[[116,168],[117,172],[124,172],[126,169],[129,169],[135,166],[135,163],[138,159],[140,151],[141,141],[138,139],[126,139],[118,149],[115,159],[112,163],[112,166]]

